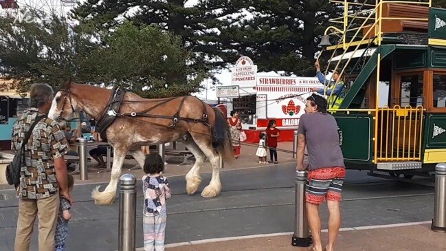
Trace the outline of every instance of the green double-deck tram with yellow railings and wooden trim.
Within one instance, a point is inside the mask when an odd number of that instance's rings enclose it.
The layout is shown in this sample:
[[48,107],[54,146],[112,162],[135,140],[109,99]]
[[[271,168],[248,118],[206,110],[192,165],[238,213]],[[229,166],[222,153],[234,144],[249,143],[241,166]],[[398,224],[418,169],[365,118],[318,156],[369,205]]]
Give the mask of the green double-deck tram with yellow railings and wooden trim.
[[346,11],[320,45],[345,83],[330,112],[347,168],[430,175],[446,162],[446,10],[431,1],[332,2]]

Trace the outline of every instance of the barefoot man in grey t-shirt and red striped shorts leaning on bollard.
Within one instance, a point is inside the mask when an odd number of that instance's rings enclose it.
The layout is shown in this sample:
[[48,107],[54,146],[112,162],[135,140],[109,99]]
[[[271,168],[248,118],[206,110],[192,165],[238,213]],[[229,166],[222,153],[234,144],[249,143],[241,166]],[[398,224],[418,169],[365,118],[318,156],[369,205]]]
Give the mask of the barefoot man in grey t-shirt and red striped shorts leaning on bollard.
[[[345,177],[344,156],[339,146],[335,118],[326,113],[327,101],[312,94],[306,98],[305,114],[298,129],[298,171],[309,169],[305,192],[306,213],[313,237],[312,251],[322,251],[319,205],[326,199],[328,212],[328,243],[324,250],[333,251],[341,225],[339,201]],[[304,167],[305,146],[309,166]]]

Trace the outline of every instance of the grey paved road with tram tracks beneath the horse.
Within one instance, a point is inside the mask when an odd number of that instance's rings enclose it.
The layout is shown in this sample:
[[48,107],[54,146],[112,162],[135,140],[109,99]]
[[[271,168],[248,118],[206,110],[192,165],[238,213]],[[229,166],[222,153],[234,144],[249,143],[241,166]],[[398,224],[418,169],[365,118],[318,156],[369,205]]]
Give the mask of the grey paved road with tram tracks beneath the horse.
[[[285,164],[243,168],[254,162],[253,157],[245,153],[236,160],[240,168],[227,168],[221,173],[223,191],[212,199],[199,196],[210,181],[209,173],[202,175],[203,183],[197,195],[193,196],[186,195],[183,176],[170,177],[174,195],[168,201],[166,243],[292,232],[296,164],[290,157],[280,157]],[[173,165],[169,166],[172,167],[167,169],[168,175],[175,171]],[[102,180],[107,180],[107,175],[102,175]],[[348,171],[347,176],[342,203],[344,228],[432,219],[432,187],[369,177],[359,171]],[[74,219],[70,221],[67,244],[69,251],[117,249],[118,201],[111,206],[95,205],[89,196],[94,186],[96,184],[84,184],[74,189]],[[10,198],[0,201],[0,250],[6,251],[12,250],[17,208],[13,191],[3,190],[0,193]],[[140,195],[138,190],[137,246],[142,246]],[[321,215],[326,222],[325,208]],[[31,250],[36,250],[36,234],[32,243]]]

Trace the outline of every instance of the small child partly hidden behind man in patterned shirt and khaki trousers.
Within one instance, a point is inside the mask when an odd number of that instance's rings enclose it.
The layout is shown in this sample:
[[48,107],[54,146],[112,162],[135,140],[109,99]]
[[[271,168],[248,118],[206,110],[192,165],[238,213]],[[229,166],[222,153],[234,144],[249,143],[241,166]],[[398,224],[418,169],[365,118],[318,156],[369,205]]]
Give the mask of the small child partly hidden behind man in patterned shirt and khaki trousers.
[[[67,175],[67,185],[69,193],[73,190],[74,178],[70,174]],[[68,221],[71,219],[69,209],[71,205],[64,197],[60,197],[59,214],[57,216],[56,232],[54,233],[54,250],[65,250],[65,241],[67,241]]]

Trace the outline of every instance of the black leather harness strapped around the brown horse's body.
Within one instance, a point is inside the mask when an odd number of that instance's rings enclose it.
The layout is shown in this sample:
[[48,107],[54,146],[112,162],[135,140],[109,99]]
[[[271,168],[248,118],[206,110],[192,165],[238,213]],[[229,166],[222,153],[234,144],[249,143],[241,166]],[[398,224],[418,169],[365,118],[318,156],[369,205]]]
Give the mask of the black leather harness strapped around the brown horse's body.
[[[174,128],[179,120],[183,120],[186,122],[201,122],[205,124],[205,126],[210,128],[211,135],[212,133],[212,125],[208,121],[208,114],[205,113],[206,106],[205,103],[201,101],[201,104],[203,105],[203,118],[184,118],[179,116],[179,113],[181,111],[181,108],[183,107],[183,103],[188,98],[187,96],[184,97],[173,97],[168,98],[167,100],[164,100],[162,102],[159,102],[157,105],[154,105],[153,107],[150,107],[149,109],[145,109],[144,111],[140,112],[131,112],[131,113],[119,113],[121,104],[122,104],[122,98],[124,98],[124,95],[126,94],[126,91],[120,89],[119,87],[113,87],[112,94],[110,96],[109,102],[107,104],[107,107],[105,107],[104,111],[102,112],[102,115],[100,116],[98,120],[98,124],[96,126],[98,127],[97,131],[100,133],[101,137],[103,139],[106,139],[105,131],[107,128],[113,124],[116,118],[118,117],[127,117],[127,118],[135,118],[135,117],[146,117],[146,118],[162,118],[162,119],[168,119],[172,120],[172,124],[168,126],[168,128]],[[152,111],[153,109],[166,104],[167,102],[170,102],[172,100],[175,100],[177,98],[182,98],[181,102],[179,104],[179,107],[177,109],[177,112],[173,116],[164,116],[164,115],[157,115],[157,114],[148,114],[149,111]],[[72,105],[71,105],[72,107]],[[155,124],[157,126],[165,127],[164,124],[157,124],[155,122],[149,122],[150,124]],[[214,141],[214,136],[212,135],[212,140]]]

